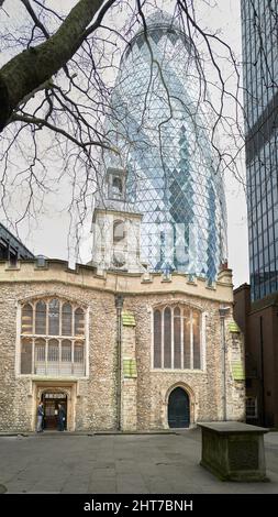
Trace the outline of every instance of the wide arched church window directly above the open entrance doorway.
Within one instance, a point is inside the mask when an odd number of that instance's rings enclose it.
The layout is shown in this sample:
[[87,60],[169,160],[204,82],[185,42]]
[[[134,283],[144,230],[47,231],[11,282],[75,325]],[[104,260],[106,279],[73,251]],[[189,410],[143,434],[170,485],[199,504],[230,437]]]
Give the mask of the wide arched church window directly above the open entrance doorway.
[[85,338],[81,307],[58,298],[24,304],[21,309],[21,374],[85,375]]

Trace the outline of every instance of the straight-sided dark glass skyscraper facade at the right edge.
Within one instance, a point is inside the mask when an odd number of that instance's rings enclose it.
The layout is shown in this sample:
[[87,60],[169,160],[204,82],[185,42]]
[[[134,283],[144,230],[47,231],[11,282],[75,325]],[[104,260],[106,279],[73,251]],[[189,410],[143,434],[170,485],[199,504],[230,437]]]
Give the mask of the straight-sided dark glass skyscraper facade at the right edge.
[[252,299],[278,290],[278,0],[242,0]]

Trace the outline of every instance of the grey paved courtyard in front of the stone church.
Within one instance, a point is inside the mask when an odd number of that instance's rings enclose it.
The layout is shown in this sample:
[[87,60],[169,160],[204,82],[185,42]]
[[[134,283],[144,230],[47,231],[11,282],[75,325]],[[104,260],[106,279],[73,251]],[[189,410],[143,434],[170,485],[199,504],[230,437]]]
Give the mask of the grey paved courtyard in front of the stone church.
[[270,482],[245,484],[220,482],[199,465],[200,430],[0,437],[0,488],[8,494],[277,494],[278,432],[268,433],[265,446]]

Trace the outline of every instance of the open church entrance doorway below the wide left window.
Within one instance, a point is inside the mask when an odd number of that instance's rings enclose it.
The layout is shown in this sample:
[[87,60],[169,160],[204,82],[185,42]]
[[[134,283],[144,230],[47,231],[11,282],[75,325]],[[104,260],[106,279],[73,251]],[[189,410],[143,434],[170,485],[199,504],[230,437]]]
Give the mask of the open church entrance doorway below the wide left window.
[[67,429],[67,395],[65,393],[45,392],[42,395],[44,404],[44,429],[54,431],[58,429],[58,404],[64,407],[66,420],[65,430]]

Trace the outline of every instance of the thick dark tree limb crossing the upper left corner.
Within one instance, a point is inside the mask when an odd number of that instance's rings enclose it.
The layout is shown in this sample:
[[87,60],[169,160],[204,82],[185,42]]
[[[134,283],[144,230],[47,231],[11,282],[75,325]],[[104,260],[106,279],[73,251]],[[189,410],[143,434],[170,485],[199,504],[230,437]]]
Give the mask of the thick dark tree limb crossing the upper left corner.
[[104,0],[79,0],[46,42],[13,57],[0,70],[0,131],[24,97],[56,74],[76,53]]

